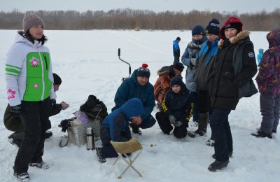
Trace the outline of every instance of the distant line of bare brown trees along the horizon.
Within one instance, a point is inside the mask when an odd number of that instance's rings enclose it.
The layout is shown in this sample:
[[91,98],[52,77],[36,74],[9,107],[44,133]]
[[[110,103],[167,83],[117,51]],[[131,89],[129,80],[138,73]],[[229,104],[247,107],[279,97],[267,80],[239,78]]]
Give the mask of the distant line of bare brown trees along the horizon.
[[[249,8],[249,7],[248,7]],[[45,22],[45,29],[89,30],[89,29],[148,29],[148,30],[185,30],[195,25],[206,27],[207,22],[216,18],[223,22],[231,15],[244,23],[244,29],[251,31],[271,31],[280,27],[280,8],[272,12],[262,10],[257,13],[211,12],[192,10],[165,11],[155,13],[151,10],[133,10],[130,8],[109,10],[38,10],[35,12]],[[24,13],[19,10],[0,12],[0,29],[22,29]]]

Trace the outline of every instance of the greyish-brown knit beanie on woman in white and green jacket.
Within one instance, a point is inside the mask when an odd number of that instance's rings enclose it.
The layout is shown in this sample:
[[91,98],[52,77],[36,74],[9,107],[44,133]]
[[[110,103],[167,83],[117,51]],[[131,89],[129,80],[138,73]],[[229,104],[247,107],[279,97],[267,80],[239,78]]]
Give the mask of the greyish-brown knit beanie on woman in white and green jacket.
[[43,27],[45,27],[43,20],[38,15],[32,12],[25,13],[25,17],[22,20],[23,30],[26,32],[34,25],[42,25]]

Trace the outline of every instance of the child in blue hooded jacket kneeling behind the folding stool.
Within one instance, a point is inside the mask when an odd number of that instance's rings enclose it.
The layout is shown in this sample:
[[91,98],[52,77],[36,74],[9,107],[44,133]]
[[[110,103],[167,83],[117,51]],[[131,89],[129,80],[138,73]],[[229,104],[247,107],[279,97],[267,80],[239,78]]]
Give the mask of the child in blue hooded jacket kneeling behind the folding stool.
[[117,158],[118,153],[110,141],[124,142],[132,139],[129,121],[140,118],[144,107],[140,99],[129,99],[123,106],[106,116],[101,127],[102,148],[96,148],[99,162],[106,162],[106,158]]

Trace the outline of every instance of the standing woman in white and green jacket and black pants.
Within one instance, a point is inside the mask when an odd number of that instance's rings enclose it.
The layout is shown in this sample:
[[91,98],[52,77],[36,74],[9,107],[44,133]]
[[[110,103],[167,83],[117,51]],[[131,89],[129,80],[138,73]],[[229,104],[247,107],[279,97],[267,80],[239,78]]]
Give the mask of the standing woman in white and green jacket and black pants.
[[50,104],[55,103],[50,52],[45,45],[44,22],[27,12],[6,60],[6,85],[10,112],[20,116],[25,137],[15,158],[14,175],[29,181],[28,166],[48,169],[43,148]]

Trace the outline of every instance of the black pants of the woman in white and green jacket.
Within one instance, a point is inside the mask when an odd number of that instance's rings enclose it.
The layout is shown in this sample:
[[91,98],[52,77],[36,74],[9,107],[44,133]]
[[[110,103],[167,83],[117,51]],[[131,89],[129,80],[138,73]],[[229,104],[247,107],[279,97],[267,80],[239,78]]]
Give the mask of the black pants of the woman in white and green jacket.
[[14,170],[20,174],[27,172],[29,163],[43,162],[43,148],[48,117],[50,116],[50,99],[41,102],[22,101],[20,119],[25,129],[18,154],[15,158]]

